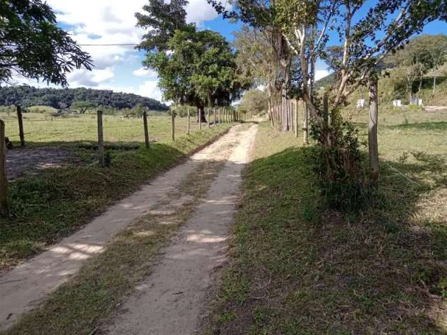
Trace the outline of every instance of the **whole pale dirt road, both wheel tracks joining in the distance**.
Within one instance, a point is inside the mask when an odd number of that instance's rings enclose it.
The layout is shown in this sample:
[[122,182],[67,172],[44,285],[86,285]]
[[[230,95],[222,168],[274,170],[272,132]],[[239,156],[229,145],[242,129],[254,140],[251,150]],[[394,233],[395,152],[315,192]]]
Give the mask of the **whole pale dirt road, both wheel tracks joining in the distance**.
[[103,329],[112,334],[193,334],[213,269],[225,258],[228,224],[233,219],[240,173],[249,158],[257,126],[232,128],[189,161],[169,170],[140,191],[110,207],[79,232],[0,276],[0,329],[34,308],[68,280],[120,230],[144,216],[182,184],[203,161],[230,156],[193,217],[156,265],[152,275],[122,304],[122,313]]

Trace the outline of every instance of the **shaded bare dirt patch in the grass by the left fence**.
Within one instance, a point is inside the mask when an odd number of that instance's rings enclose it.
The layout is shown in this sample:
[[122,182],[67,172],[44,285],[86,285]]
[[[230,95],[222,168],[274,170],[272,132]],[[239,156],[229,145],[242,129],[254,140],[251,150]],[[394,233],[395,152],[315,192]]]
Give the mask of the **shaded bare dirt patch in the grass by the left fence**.
[[39,174],[47,168],[61,168],[73,160],[72,151],[57,147],[13,149],[6,152],[6,173],[12,180],[23,174]]

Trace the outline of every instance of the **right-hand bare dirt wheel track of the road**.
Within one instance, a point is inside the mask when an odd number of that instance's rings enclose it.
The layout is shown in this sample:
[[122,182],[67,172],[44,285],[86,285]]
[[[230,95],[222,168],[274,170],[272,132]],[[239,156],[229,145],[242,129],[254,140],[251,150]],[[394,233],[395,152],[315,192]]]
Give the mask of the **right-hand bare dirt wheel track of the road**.
[[228,228],[236,211],[242,170],[257,126],[240,134],[205,199],[182,228],[152,274],[122,304],[106,334],[196,334],[208,290],[226,260]]

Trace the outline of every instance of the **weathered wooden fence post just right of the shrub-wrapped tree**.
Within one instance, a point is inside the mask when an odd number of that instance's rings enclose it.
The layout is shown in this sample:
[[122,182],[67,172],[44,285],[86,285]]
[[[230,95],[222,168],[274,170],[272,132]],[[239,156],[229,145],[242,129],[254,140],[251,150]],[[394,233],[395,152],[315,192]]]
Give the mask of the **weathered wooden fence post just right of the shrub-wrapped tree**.
[[369,172],[373,180],[379,177],[379,147],[377,142],[378,114],[379,99],[377,97],[377,80],[371,80],[369,82],[368,153]]

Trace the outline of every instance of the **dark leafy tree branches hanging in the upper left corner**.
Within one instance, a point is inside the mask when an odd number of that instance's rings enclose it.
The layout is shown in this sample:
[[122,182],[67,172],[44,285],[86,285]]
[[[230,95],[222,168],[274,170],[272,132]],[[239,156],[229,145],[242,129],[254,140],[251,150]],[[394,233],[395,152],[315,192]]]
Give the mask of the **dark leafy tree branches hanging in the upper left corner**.
[[67,86],[66,73],[91,69],[89,54],[57,27],[56,16],[41,0],[0,2],[0,83],[13,75]]

